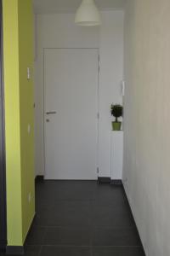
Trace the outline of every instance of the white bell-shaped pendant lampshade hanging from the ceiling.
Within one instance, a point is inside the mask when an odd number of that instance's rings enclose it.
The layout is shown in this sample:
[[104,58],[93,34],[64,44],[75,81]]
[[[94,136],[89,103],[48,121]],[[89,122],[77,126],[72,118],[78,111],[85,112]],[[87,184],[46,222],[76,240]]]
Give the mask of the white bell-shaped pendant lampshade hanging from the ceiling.
[[77,9],[75,22],[80,26],[99,26],[101,24],[99,9],[94,0],[82,0]]

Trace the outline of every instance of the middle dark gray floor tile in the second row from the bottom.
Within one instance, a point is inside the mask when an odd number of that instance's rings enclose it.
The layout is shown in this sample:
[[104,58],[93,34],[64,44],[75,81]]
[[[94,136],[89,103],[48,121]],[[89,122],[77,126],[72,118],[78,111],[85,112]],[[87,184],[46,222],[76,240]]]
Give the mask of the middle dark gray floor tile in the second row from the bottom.
[[89,246],[90,230],[73,228],[48,228],[44,245]]

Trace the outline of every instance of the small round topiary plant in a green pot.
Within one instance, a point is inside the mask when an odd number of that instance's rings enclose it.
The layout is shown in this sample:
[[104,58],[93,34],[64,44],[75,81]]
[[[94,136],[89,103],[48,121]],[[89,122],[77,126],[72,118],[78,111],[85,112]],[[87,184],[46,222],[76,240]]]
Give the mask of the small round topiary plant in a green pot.
[[121,131],[122,122],[118,120],[118,118],[122,117],[123,107],[122,105],[116,104],[111,105],[111,115],[116,118],[114,122],[112,122],[113,131]]

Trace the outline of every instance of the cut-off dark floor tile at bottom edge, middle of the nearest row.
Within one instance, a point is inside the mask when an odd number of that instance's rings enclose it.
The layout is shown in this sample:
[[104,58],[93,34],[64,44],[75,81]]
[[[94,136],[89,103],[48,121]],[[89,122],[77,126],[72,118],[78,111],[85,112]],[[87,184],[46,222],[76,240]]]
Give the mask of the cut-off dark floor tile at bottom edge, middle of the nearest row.
[[89,247],[42,247],[40,256],[91,256]]

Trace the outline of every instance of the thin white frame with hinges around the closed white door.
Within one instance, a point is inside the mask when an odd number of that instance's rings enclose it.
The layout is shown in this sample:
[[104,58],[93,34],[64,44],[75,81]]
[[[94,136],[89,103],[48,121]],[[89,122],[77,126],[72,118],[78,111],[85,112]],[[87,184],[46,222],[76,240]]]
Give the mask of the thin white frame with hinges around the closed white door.
[[97,154],[97,170],[96,170],[96,180],[99,178],[99,72],[100,72],[100,54],[98,47],[45,47],[43,48],[43,177],[46,174],[46,143],[45,143],[45,50],[46,49],[96,49],[98,51],[98,87],[97,87],[97,145],[96,145],[96,154]]

